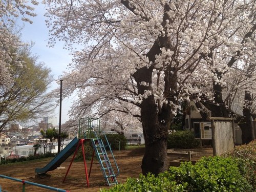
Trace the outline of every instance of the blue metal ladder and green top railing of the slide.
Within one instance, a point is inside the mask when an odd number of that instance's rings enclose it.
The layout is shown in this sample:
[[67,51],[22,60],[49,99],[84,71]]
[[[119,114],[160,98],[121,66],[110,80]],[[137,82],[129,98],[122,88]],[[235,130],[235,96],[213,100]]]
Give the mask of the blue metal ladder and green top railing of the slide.
[[[93,158],[96,155],[106,184],[109,186],[118,184],[116,177],[119,175],[119,168],[105,133],[100,131],[99,119],[81,118],[79,120],[79,136],[86,140],[91,140],[94,149],[89,177]],[[104,138],[105,144],[103,143],[102,137]]]

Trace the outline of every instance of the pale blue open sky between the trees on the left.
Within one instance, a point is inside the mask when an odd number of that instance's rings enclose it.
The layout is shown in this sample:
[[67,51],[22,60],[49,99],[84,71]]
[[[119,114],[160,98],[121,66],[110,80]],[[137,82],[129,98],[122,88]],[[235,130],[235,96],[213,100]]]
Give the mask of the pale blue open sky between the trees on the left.
[[[38,61],[44,62],[48,68],[52,70],[54,79],[58,79],[58,76],[62,74],[63,71],[68,71],[67,66],[71,62],[72,55],[69,51],[63,49],[64,43],[57,42],[54,48],[47,47],[48,44],[48,28],[45,24],[45,6],[39,4],[35,6],[36,17],[30,18],[33,24],[20,23],[20,26],[24,26],[22,30],[22,40],[24,42],[34,42],[32,47],[32,54],[38,56]],[[53,81],[51,89],[59,88],[59,85]],[[49,90],[49,91],[50,91]],[[62,100],[62,113],[61,122],[64,123],[68,120],[68,111],[70,110],[70,105],[72,98],[67,98]],[[59,106],[54,111],[53,117],[49,120],[54,125],[58,125],[59,122]]]

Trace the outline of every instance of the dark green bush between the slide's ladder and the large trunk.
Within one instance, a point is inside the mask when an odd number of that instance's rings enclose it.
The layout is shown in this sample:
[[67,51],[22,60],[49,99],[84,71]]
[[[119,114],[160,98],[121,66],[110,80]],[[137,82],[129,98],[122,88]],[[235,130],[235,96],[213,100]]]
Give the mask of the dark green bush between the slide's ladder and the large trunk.
[[[120,142],[120,150],[125,150],[127,145],[127,139],[124,135],[121,134],[106,134],[106,138],[108,139],[112,150],[119,150],[119,142]],[[104,136],[101,136],[101,139],[104,144],[106,144],[106,140]]]

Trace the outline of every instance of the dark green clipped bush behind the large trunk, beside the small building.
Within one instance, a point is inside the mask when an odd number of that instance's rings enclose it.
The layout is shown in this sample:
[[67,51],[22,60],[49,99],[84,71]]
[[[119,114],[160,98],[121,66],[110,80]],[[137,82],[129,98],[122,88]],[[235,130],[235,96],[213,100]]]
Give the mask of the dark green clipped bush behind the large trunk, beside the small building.
[[200,141],[195,139],[191,131],[172,132],[167,137],[167,148],[195,148],[200,146]]

